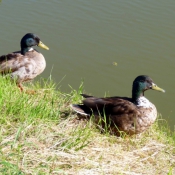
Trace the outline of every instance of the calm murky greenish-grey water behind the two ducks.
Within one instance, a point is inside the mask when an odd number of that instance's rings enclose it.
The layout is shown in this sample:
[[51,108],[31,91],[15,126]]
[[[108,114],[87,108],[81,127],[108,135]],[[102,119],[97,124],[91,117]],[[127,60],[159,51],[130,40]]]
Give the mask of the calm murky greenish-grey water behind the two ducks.
[[63,79],[65,92],[83,80],[89,94],[130,96],[134,78],[149,75],[166,93],[146,97],[174,127],[175,1],[2,0],[0,16],[0,55],[36,33],[50,48],[37,48],[47,61],[41,76]]

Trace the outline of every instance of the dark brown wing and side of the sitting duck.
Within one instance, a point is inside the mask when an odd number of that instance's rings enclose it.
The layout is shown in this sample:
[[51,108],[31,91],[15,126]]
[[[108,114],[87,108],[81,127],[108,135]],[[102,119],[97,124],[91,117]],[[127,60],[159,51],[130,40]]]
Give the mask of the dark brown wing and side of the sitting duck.
[[79,107],[85,113],[93,114],[97,119],[106,117],[105,120],[108,124],[110,123],[111,127],[116,128],[117,126],[119,130],[129,134],[136,132],[136,128],[139,126],[136,118],[142,116],[139,107],[132,103],[131,98],[128,97],[96,98],[86,96],[83,105]]

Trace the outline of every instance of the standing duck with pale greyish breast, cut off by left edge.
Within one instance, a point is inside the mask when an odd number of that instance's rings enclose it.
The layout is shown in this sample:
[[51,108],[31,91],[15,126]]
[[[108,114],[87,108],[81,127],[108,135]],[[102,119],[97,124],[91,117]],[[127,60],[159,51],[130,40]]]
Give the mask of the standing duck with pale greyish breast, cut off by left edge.
[[37,35],[27,33],[21,39],[21,51],[0,56],[0,73],[9,74],[12,79],[15,79],[21,91],[23,91],[22,82],[34,79],[46,67],[44,56],[32,46],[49,50]]

